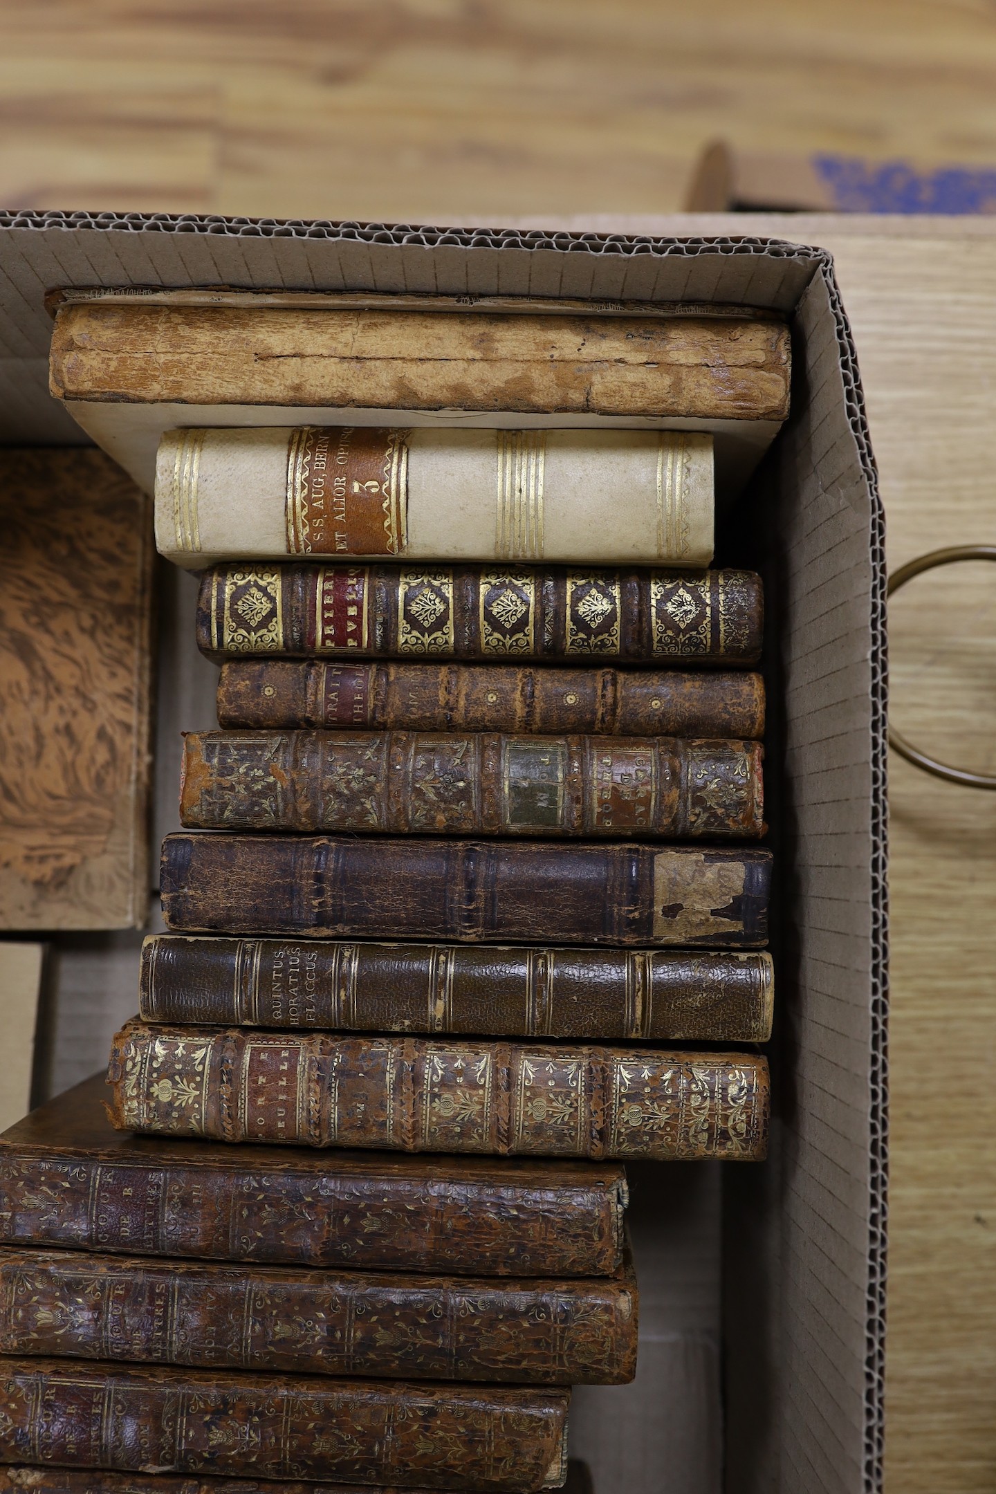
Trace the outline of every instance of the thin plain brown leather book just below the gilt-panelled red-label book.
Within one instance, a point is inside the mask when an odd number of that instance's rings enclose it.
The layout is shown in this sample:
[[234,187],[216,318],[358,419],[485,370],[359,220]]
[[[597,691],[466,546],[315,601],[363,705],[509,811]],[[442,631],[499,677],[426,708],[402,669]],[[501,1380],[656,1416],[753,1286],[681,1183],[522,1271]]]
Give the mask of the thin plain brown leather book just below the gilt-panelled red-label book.
[[230,659],[221,726],[412,732],[765,735],[765,681],[742,671]]

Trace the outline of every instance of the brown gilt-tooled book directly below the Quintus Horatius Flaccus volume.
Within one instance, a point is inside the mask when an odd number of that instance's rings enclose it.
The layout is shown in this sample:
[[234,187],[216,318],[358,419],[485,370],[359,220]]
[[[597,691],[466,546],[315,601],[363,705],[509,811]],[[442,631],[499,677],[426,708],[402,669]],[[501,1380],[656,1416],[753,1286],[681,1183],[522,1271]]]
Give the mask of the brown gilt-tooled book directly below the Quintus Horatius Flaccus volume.
[[397,1152],[759,1161],[750,1053],[339,1037],[125,1023],[108,1070],[127,1131]]

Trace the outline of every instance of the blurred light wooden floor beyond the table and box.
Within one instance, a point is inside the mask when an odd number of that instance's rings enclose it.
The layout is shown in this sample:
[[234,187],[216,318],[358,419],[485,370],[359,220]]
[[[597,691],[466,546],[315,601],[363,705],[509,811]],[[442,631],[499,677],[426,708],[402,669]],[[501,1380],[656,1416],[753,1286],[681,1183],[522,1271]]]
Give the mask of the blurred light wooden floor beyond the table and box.
[[990,166],[944,0],[0,7],[10,206],[406,223],[667,212],[702,146]]

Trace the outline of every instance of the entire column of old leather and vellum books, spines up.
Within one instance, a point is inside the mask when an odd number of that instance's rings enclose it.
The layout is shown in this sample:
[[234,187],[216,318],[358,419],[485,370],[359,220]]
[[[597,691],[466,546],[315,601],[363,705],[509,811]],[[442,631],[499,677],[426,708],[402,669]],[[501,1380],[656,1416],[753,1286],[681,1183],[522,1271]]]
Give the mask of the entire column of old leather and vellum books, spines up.
[[762,587],[709,562],[787,332],[84,300],[52,381],[158,438],[221,729],[106,1113],[0,1143],[7,1481],[558,1487],[636,1369],[626,1159],[765,1155]]

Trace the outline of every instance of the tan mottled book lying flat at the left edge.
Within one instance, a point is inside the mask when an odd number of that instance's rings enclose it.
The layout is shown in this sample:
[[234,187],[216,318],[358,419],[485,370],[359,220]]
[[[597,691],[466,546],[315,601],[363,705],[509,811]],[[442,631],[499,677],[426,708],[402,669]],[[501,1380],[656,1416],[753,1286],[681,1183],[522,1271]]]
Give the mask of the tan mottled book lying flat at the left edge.
[[149,503],[103,453],[0,453],[0,929],[149,896]]

